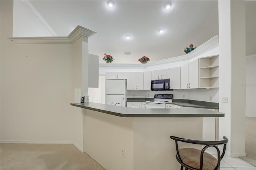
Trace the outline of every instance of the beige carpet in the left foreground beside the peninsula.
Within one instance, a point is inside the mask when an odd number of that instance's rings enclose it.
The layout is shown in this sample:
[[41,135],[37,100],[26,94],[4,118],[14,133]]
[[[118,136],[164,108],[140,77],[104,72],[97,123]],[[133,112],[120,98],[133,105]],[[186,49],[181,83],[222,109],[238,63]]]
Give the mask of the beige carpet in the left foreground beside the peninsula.
[[72,144],[0,144],[1,170],[105,170]]

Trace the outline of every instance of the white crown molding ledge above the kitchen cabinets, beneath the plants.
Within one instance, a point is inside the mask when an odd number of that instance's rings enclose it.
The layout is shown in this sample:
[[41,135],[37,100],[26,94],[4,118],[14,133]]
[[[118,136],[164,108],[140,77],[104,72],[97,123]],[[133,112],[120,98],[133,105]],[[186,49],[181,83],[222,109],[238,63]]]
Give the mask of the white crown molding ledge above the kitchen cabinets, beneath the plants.
[[203,43],[202,45],[200,45],[199,47],[197,47],[196,49],[194,49],[193,51],[191,51],[190,53],[186,54],[186,55],[181,55],[178,57],[172,57],[172,58],[168,58],[168,59],[162,59],[159,61],[153,61],[150,63],[146,63],[146,64],[140,64],[140,63],[111,63],[111,64],[105,64],[105,63],[100,63],[99,67],[140,67],[140,68],[146,68],[148,66],[153,66],[153,65],[158,65],[158,64],[165,64],[165,63],[171,63],[174,61],[186,61],[186,60],[190,60],[194,57],[196,57],[197,55],[199,55],[200,53],[202,53],[204,50],[212,47],[213,45],[215,45],[216,43],[219,42],[219,36],[214,36],[213,38],[211,38],[210,40],[208,40],[207,42]]

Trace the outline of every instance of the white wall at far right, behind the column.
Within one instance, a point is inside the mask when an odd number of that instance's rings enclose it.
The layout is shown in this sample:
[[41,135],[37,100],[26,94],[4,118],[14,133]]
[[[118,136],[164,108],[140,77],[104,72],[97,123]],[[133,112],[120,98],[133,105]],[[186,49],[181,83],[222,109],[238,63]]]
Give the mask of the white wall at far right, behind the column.
[[246,59],[246,116],[256,117],[256,55]]

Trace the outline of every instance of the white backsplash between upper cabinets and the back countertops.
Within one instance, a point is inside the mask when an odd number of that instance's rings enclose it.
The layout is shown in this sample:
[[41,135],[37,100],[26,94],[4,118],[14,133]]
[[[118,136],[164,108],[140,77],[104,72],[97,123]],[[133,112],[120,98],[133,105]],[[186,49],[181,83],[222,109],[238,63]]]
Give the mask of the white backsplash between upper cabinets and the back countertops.
[[[190,99],[219,103],[219,89],[183,89],[174,91],[127,90],[127,97],[150,97],[154,94],[173,94],[174,99]],[[185,98],[183,98],[185,95]],[[210,101],[212,96],[212,101]]]

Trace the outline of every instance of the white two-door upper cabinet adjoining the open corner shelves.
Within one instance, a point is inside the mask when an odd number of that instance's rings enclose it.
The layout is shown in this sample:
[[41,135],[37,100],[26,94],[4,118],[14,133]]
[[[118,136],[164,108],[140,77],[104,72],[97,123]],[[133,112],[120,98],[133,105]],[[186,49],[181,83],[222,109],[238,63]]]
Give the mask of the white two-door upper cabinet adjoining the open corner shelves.
[[198,88],[198,59],[181,66],[180,87],[181,89]]

